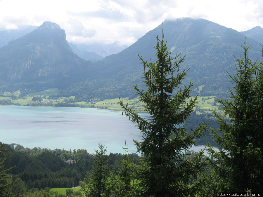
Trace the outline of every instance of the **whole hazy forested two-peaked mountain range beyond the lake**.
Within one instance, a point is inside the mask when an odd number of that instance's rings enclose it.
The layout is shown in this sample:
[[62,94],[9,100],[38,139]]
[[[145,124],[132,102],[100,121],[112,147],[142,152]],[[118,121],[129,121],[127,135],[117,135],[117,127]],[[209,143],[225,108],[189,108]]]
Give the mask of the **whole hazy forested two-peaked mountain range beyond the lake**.
[[[184,83],[193,82],[197,91],[198,86],[204,86],[202,96],[227,94],[231,83],[225,70],[235,71],[235,57],[243,54],[240,45],[245,35],[208,20],[191,18],[166,20],[163,33],[172,57],[176,53],[186,54],[180,72],[191,69]],[[155,61],[156,35],[161,36],[161,25],[120,53],[91,62],[73,53],[59,25],[44,22],[0,48],[0,92],[56,87],[60,96],[75,95],[79,101],[132,97],[135,93],[132,84],[143,87],[143,67],[137,53],[144,60]],[[252,46],[250,58],[260,57],[258,42],[247,37],[247,43]]]

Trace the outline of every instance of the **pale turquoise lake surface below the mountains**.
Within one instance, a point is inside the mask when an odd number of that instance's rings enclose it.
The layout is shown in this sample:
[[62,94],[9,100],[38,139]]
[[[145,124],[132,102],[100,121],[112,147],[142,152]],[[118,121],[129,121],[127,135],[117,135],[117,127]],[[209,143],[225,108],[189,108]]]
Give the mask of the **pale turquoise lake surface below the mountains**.
[[[148,114],[140,114],[147,117]],[[95,153],[98,143],[107,154],[123,153],[124,140],[130,153],[134,140],[141,141],[140,130],[122,112],[77,107],[0,106],[0,141],[24,147],[86,149]],[[195,151],[201,147],[193,147]],[[140,154],[139,154],[140,155]]]

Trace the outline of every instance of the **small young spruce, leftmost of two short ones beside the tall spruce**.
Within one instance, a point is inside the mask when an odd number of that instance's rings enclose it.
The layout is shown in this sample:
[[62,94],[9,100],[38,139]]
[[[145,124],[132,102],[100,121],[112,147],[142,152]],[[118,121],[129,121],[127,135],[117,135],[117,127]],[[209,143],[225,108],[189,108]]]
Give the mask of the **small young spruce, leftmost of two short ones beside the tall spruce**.
[[94,165],[92,165],[91,176],[87,177],[85,174],[86,184],[81,186],[84,196],[98,197],[101,195],[109,196],[109,184],[108,184],[108,161],[105,158],[107,152],[104,149],[104,145],[98,144],[99,150],[96,151],[96,156],[94,159]]

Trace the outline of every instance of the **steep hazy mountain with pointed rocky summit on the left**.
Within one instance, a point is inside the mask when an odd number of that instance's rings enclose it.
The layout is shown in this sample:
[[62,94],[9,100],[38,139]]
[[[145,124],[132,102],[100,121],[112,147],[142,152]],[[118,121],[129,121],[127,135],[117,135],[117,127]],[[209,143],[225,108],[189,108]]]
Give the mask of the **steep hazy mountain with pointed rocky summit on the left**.
[[46,21],[0,48],[0,83],[32,90],[65,88],[79,79],[88,64],[72,52],[65,31]]

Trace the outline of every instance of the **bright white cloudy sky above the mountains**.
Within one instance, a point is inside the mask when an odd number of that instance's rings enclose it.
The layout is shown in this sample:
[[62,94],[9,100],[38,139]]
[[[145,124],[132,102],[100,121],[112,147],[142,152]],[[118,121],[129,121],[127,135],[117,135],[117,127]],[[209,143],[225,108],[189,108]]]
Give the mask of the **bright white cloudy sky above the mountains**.
[[131,45],[166,19],[204,18],[244,31],[263,27],[262,0],[0,0],[0,30],[55,22],[67,40]]

